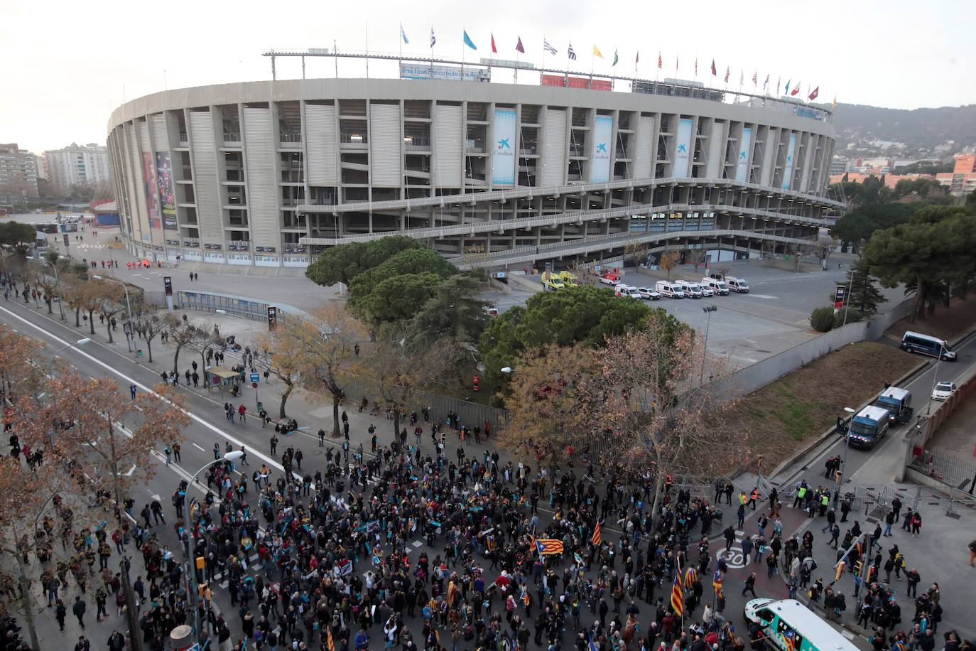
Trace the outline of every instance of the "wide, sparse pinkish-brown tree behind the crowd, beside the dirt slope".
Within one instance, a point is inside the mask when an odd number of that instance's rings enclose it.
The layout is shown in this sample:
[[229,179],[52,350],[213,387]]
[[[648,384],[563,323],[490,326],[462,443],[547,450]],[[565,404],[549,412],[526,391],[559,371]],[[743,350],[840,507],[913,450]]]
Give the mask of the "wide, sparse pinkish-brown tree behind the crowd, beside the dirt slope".
[[[601,397],[587,413],[587,430],[606,445],[605,458],[653,472],[655,523],[668,477],[711,483],[750,454],[718,427],[731,403],[699,382],[704,355],[690,329],[671,337],[664,321],[651,320],[610,337],[599,372],[581,377],[580,391]],[[712,360],[710,377],[719,373]]]

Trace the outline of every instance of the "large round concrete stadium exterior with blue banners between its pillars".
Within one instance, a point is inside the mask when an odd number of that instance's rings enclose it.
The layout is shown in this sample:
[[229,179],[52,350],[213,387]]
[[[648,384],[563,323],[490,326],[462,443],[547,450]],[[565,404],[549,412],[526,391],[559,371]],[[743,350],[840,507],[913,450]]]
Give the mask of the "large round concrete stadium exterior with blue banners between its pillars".
[[304,267],[394,233],[466,267],[638,243],[741,256],[809,243],[842,209],[830,111],[652,82],[186,88],[117,108],[108,149],[126,246],[154,261]]

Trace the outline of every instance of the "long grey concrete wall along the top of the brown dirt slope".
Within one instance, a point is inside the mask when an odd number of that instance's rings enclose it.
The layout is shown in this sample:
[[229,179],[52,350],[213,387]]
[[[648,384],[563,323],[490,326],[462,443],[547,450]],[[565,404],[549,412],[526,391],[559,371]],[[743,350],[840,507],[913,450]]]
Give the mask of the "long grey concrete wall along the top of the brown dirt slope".
[[856,342],[873,342],[880,339],[884,331],[897,321],[908,316],[912,311],[913,303],[914,299],[904,301],[895,305],[887,314],[882,314],[873,321],[848,323],[842,328],[836,328],[816,339],[811,339],[799,346],[793,346],[772,357],[767,357],[752,364],[752,366],[747,366],[730,376],[715,381],[715,387],[719,395],[731,400],[751,393],[759,387],[765,387],[841,346]]

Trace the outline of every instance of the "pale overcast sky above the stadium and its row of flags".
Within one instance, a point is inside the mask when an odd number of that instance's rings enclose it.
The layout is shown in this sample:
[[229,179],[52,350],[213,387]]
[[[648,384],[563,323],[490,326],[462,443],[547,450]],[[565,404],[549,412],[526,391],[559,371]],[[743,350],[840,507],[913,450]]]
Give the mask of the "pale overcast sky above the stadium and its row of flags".
[[[368,30],[367,30],[368,20]],[[712,59],[718,80],[730,66],[731,87],[745,71],[775,84],[790,79],[819,85],[821,102],[915,108],[976,102],[976,2],[935,0],[824,0],[796,2],[617,2],[554,0],[484,2],[215,2],[208,0],[0,0],[0,142],[32,151],[70,142],[104,143],[111,109],[125,100],[186,86],[270,78],[269,48],[331,48],[397,52],[398,23],[410,43],[403,54],[467,61],[491,56],[491,33],[500,59],[542,63],[544,36],[558,50],[549,66],[564,65],[567,42],[576,69],[590,69],[595,44],[608,74],[617,70],[653,78],[660,51],[661,77],[708,83]],[[462,46],[462,28],[477,52]],[[680,63],[674,74],[675,57]],[[165,70],[165,74],[164,74]],[[503,74],[497,71],[496,80]],[[298,59],[280,61],[278,77],[300,77]],[[340,61],[340,76],[362,76],[362,65]],[[395,76],[374,62],[371,76]],[[308,77],[332,77],[332,60],[309,60]],[[505,73],[509,74],[509,73]],[[521,75],[519,82],[525,83]],[[535,79],[538,79],[536,77]],[[534,81],[535,81],[534,79]],[[811,87],[812,87],[811,86]],[[123,91],[124,87],[124,91]]]

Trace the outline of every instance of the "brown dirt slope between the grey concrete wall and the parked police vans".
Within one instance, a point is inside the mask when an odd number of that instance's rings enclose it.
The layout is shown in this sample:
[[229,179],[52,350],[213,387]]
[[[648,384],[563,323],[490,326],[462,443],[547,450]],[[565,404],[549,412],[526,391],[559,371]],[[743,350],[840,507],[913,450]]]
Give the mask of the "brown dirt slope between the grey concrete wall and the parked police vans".
[[739,400],[722,427],[745,436],[748,467],[761,454],[762,468],[771,470],[832,427],[844,407],[859,407],[919,361],[886,344],[844,346]]

